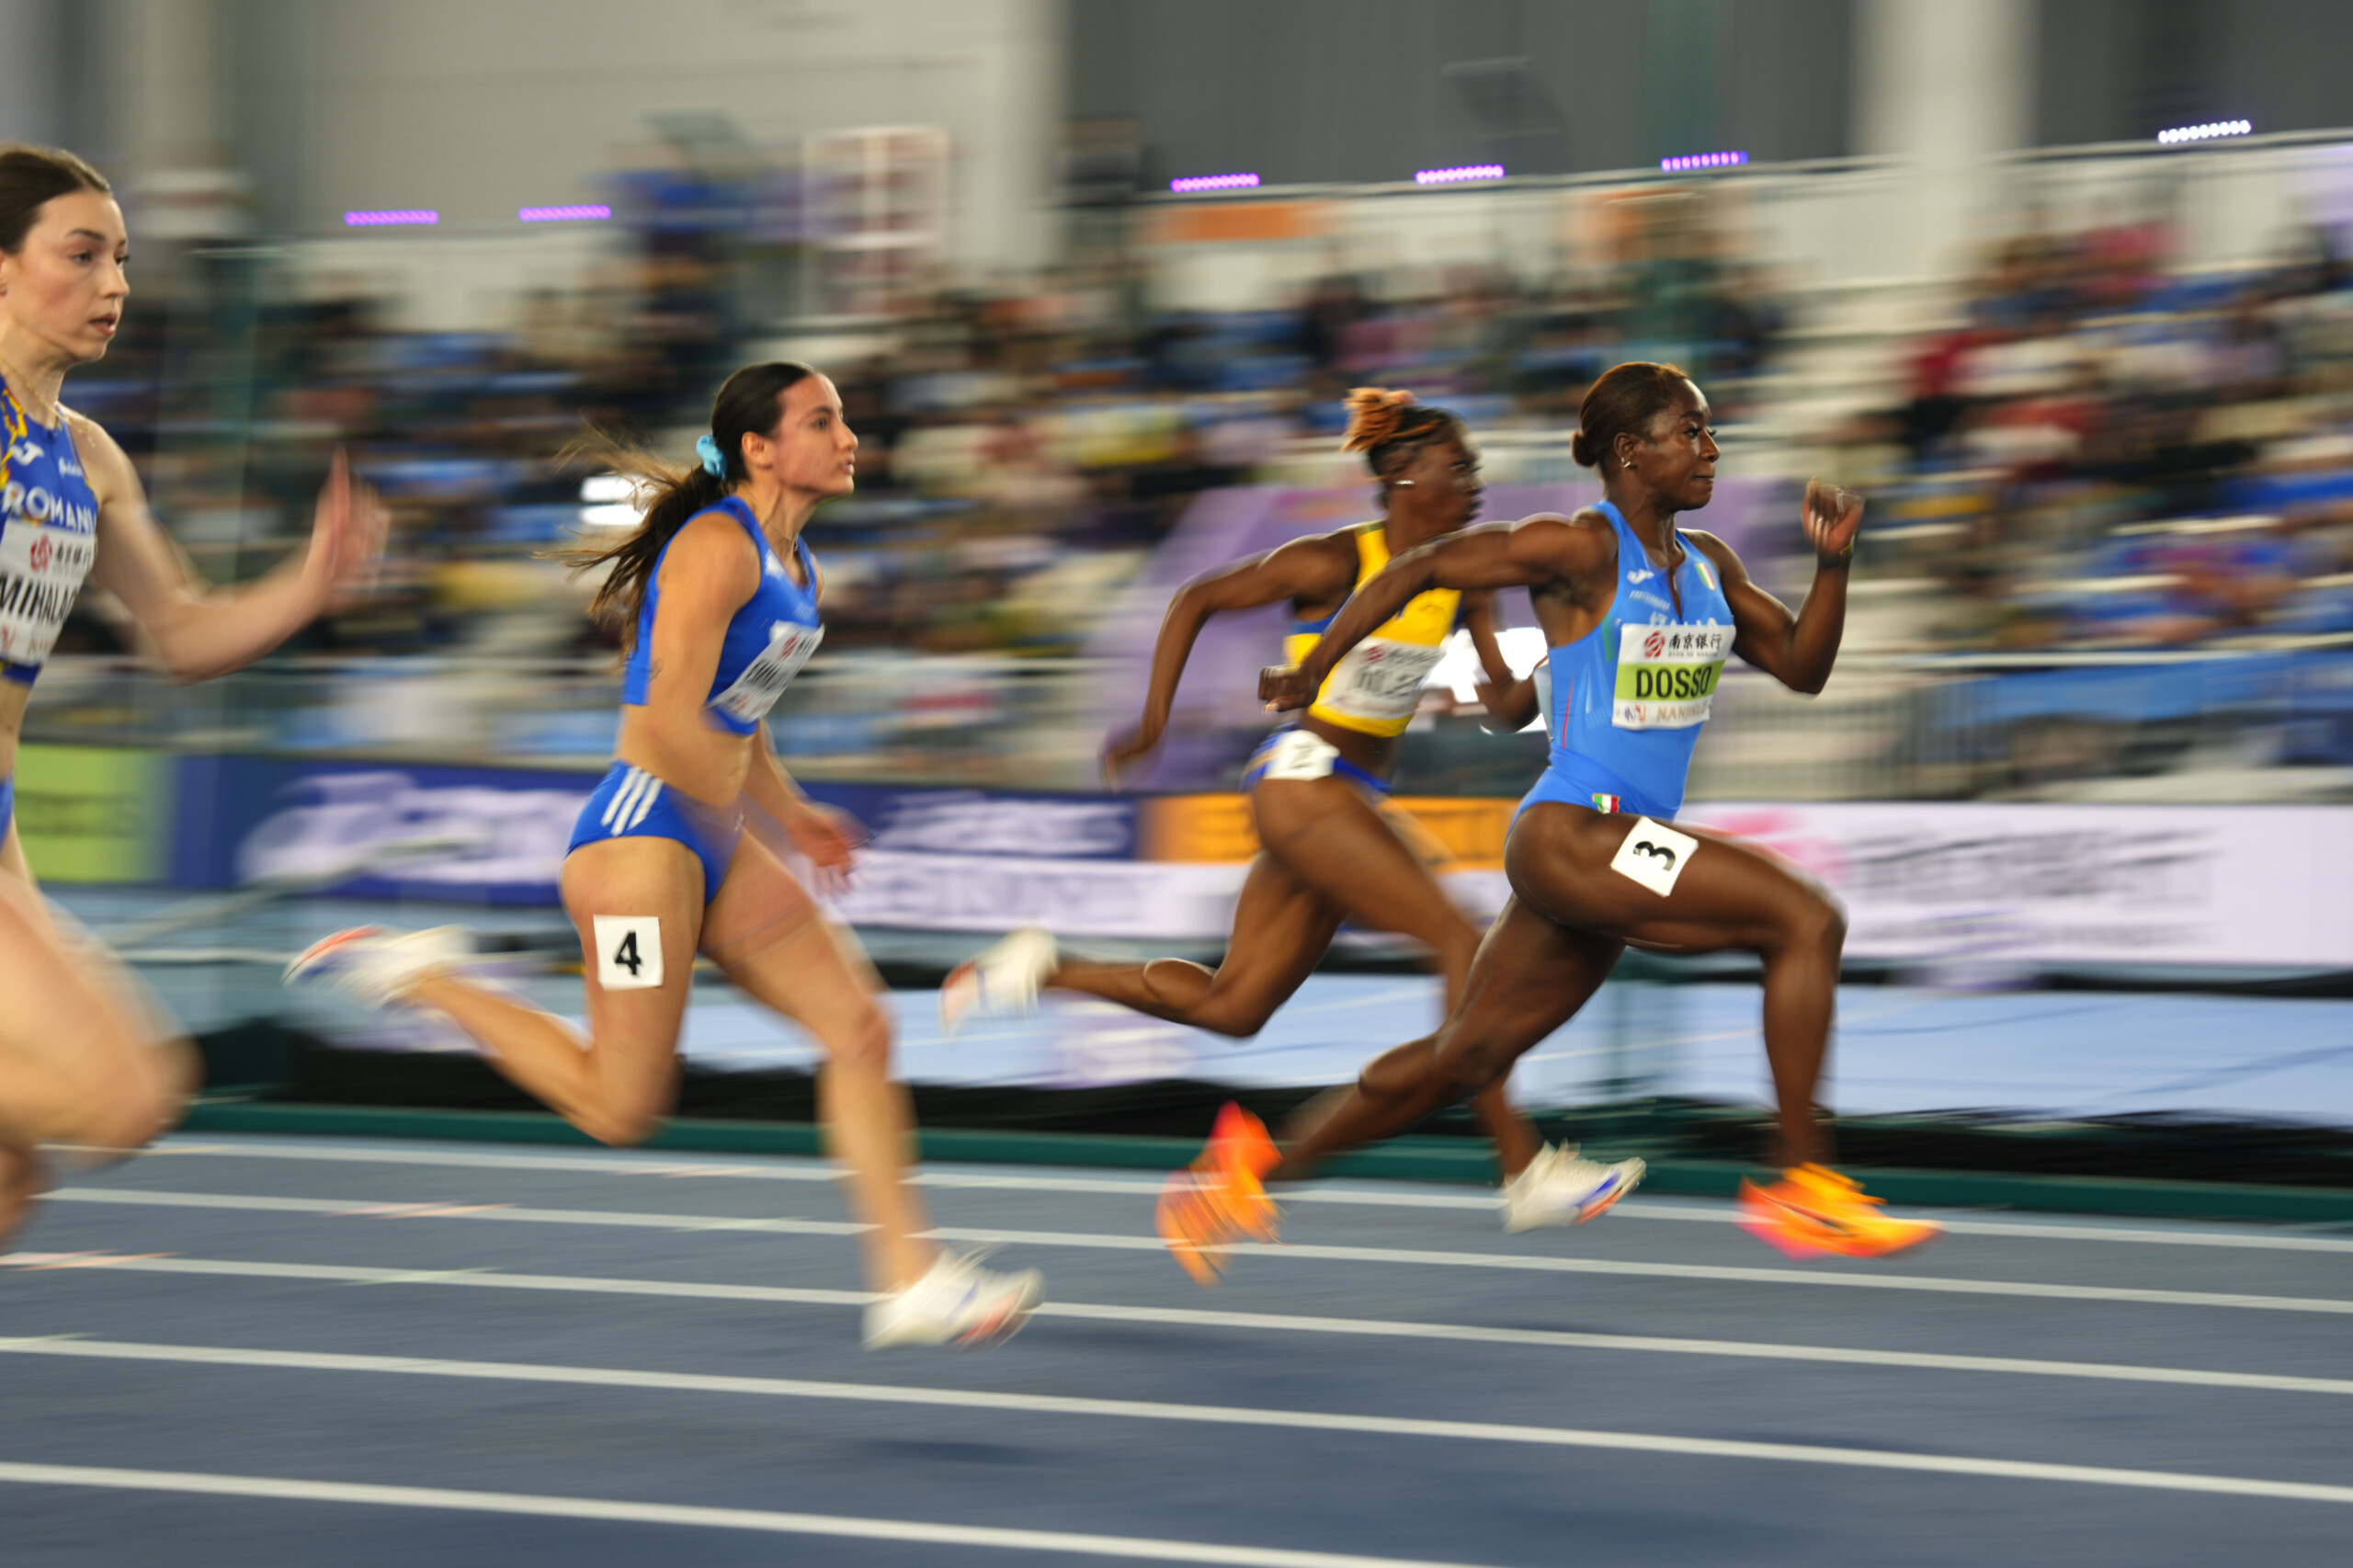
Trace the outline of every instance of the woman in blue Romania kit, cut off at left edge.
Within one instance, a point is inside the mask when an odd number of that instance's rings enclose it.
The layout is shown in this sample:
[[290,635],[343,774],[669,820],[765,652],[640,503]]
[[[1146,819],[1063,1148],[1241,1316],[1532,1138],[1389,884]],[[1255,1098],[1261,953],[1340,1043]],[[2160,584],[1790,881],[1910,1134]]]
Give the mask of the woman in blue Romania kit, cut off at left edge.
[[311,549],[235,593],[188,579],[122,447],[59,405],[66,372],[106,358],[122,325],[127,261],[96,170],[0,146],[0,1238],[40,1184],[38,1144],[136,1149],[179,1118],[198,1071],[129,975],[52,916],[16,841],[16,735],[75,593],[113,591],[165,669],[202,680],[301,629],[384,542],[381,509],[336,454]]

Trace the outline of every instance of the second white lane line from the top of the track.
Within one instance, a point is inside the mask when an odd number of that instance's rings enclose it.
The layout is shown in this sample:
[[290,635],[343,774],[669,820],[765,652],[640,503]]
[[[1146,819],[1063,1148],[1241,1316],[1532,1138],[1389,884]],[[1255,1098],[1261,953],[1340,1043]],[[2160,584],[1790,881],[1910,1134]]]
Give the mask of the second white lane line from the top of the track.
[[[769,1231],[793,1236],[854,1236],[864,1224],[845,1220],[729,1220],[720,1215],[640,1215],[586,1208],[520,1205],[414,1205],[348,1198],[275,1198],[209,1191],[136,1191],[127,1187],[59,1187],[52,1203],[125,1203],[153,1208],[228,1208],[329,1217],[393,1220],[511,1220],[518,1224],[614,1224],[647,1231]],[[1094,1253],[1160,1253],[1155,1236],[1104,1236],[1092,1231],[1009,1231],[995,1227],[939,1227],[936,1241],[988,1245],[1080,1248]],[[2146,1307],[2235,1307],[2254,1311],[2327,1311],[2353,1316],[2353,1300],[2313,1295],[2247,1295],[2231,1290],[2137,1290],[2127,1285],[2045,1285],[2033,1281],[1958,1278],[1946,1274],[1833,1274],[1812,1269],[1748,1269],[1734,1264],[1621,1262],[1614,1257],[1539,1257],[1513,1253],[1431,1253],[1412,1248],[1341,1248],[1313,1243],[1238,1243],[1233,1253],[1294,1262],[1426,1264],[1440,1269],[1511,1269],[1522,1274],[1609,1274],[1621,1278],[1704,1278],[1741,1285],[1817,1285],[1828,1290],[1925,1290],[1941,1295],[2014,1295],[2049,1302],[2137,1302]]]

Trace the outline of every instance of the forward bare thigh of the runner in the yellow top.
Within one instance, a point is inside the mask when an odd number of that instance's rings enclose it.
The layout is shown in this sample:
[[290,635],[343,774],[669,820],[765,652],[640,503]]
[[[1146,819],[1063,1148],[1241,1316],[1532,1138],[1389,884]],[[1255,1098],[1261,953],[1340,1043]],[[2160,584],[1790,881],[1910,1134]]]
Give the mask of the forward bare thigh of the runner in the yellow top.
[[1424,859],[1346,779],[1264,779],[1259,843],[1346,918],[1440,944],[1475,930]]

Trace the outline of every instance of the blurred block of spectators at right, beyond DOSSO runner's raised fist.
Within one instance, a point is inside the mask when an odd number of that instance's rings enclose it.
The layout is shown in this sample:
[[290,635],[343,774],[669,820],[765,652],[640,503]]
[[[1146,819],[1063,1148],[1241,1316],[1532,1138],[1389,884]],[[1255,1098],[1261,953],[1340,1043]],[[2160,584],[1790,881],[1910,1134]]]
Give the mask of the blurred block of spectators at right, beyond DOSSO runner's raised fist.
[[2169,271],[2155,224],[1995,250],[1833,433],[1918,645],[2280,645],[2353,631],[2353,268],[2315,228],[2254,273]]

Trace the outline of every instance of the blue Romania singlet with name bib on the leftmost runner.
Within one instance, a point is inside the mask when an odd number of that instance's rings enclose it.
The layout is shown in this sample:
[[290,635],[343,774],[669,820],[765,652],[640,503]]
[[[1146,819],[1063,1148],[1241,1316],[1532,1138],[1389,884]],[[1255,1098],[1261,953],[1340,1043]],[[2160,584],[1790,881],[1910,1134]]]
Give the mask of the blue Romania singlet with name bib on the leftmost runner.
[[33,424],[0,386],[0,678],[33,685],[99,556],[99,494],[59,414]]

